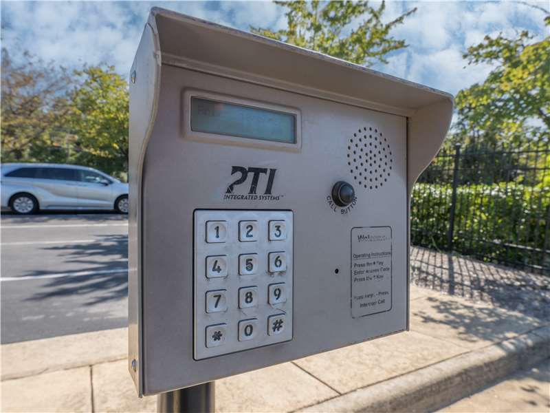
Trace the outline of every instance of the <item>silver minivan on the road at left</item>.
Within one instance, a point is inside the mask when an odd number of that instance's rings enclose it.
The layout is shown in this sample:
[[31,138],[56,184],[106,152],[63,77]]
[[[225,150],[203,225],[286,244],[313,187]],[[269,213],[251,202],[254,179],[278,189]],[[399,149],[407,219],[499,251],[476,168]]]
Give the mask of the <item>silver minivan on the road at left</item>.
[[1,166],[1,207],[39,210],[115,210],[128,213],[128,184],[97,169],[63,164]]

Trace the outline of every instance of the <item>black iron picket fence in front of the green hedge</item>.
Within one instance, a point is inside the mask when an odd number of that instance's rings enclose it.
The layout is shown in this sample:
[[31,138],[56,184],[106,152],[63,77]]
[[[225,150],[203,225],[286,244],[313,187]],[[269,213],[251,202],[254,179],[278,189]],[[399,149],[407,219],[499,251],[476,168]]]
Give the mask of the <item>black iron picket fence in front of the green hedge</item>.
[[412,191],[412,244],[550,274],[549,142],[442,149]]

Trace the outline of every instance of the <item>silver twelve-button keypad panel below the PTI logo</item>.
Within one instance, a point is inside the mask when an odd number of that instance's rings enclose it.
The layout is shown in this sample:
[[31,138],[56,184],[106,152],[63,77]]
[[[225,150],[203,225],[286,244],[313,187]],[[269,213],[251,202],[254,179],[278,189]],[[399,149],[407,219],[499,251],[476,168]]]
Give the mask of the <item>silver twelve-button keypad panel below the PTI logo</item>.
[[194,358],[292,339],[292,211],[196,210]]

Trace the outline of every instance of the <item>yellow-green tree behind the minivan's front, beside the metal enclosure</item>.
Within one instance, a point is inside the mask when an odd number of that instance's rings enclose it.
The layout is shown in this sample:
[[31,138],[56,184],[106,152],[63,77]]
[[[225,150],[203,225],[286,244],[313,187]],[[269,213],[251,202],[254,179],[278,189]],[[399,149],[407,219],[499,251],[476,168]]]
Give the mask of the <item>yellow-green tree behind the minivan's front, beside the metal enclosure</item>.
[[128,168],[128,83],[113,66],[76,70],[70,126],[78,136],[75,162],[120,175]]

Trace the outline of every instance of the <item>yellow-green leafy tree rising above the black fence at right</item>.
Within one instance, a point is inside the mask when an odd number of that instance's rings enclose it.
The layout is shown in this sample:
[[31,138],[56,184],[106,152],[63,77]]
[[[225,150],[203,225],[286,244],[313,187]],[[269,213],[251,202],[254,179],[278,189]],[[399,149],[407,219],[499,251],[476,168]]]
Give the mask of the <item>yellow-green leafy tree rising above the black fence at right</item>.
[[[546,13],[544,22],[550,28]],[[495,67],[483,83],[456,96],[454,140],[494,143],[549,137],[550,36],[536,43],[532,39],[527,31],[516,39],[485,36],[467,49],[463,57],[468,65]]]

